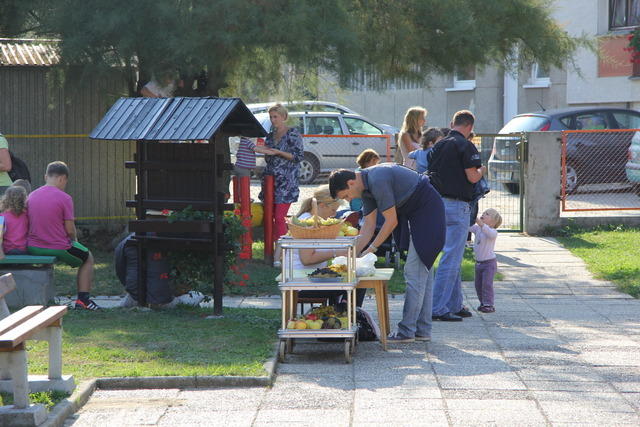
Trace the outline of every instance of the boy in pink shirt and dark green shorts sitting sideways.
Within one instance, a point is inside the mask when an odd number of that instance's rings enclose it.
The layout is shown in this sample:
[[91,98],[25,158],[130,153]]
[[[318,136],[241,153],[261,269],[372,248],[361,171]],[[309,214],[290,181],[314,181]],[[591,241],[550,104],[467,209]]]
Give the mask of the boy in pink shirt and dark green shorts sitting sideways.
[[27,249],[31,255],[55,256],[78,268],[78,298],[75,308],[97,310],[89,298],[93,283],[93,256],[76,240],[73,200],[64,192],[69,182],[69,168],[63,162],[47,166],[45,185],[29,195],[29,234]]

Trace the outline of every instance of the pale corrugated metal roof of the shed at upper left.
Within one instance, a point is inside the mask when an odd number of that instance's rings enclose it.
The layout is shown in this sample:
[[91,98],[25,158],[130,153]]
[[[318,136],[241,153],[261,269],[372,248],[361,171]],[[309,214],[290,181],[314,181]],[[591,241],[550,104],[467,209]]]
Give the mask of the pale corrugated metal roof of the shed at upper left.
[[57,40],[0,38],[0,66],[49,67],[60,61]]

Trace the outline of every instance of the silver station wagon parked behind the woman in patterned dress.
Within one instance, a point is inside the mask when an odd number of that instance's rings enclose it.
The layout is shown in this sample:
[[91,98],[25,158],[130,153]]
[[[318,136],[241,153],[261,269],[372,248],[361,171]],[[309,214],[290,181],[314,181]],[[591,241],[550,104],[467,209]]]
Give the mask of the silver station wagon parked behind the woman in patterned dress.
[[[255,114],[256,119],[267,132],[271,131],[269,114]],[[329,112],[290,112],[289,126],[297,128],[303,135],[304,160],[300,164],[300,183],[310,184],[323,172],[334,169],[356,167],[355,159],[366,148],[372,148],[386,155],[387,143],[383,138],[357,138],[357,135],[385,135],[380,125],[358,114]],[[331,140],[324,136],[339,135]],[[348,138],[344,136],[353,136]],[[258,144],[263,143],[258,139]],[[391,138],[391,153],[395,151]],[[257,157],[258,172],[265,166],[264,158]]]

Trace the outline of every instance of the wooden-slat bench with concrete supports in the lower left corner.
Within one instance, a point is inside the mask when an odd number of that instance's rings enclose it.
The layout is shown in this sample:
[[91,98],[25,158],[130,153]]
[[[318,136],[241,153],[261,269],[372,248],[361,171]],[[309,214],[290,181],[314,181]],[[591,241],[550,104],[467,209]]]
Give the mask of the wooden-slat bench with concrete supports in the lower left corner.
[[[0,295],[6,296],[16,285],[11,274],[0,277]],[[2,297],[0,297],[2,299]],[[4,301],[0,301],[0,308]],[[46,418],[41,405],[29,405],[29,393],[75,388],[72,376],[62,375],[62,317],[66,306],[45,308],[28,306],[0,320],[0,391],[13,392],[12,408],[0,408],[0,425],[9,425],[15,417],[29,418],[38,425]],[[44,376],[29,376],[25,343],[29,340],[49,343],[49,371]],[[44,416],[44,418],[43,418]]]

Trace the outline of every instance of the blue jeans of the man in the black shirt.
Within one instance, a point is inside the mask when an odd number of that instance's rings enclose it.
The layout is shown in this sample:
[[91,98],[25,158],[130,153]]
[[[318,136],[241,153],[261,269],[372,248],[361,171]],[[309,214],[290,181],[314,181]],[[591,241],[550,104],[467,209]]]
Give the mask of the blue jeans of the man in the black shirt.
[[469,231],[468,202],[443,198],[447,237],[433,285],[433,315],[442,316],[462,310],[460,267]]

